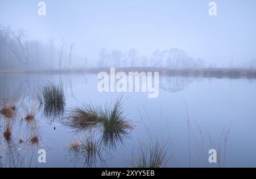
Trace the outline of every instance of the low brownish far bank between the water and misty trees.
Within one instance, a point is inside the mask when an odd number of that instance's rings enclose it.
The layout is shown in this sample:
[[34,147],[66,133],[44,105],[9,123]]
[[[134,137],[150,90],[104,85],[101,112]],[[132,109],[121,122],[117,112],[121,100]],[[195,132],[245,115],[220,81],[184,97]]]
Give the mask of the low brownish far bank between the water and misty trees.
[[[10,70],[0,71],[0,75],[13,74],[97,74],[102,71],[110,72],[110,67],[81,68],[81,69],[46,69],[46,70]],[[156,67],[116,67],[116,72],[159,72],[160,76],[195,76],[204,78],[253,78],[256,79],[256,69],[168,69]]]

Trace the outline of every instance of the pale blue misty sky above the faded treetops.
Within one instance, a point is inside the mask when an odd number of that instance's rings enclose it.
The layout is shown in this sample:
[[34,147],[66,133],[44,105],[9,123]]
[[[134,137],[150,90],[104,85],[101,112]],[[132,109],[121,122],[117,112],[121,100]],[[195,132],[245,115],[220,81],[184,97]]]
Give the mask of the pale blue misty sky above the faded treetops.
[[207,63],[227,65],[256,58],[256,1],[219,0],[209,16],[209,0],[0,0],[0,23],[26,29],[31,39],[75,42],[77,54],[97,60],[101,48],[179,48]]

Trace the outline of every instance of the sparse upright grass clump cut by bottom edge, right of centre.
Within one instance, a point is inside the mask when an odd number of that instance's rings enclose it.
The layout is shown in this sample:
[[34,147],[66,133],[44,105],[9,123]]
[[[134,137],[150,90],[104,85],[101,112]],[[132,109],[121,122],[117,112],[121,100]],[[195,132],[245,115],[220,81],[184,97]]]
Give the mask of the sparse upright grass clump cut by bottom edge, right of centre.
[[131,159],[131,166],[135,168],[161,168],[167,163],[166,144],[162,147],[157,142],[154,146],[139,145],[138,156]]

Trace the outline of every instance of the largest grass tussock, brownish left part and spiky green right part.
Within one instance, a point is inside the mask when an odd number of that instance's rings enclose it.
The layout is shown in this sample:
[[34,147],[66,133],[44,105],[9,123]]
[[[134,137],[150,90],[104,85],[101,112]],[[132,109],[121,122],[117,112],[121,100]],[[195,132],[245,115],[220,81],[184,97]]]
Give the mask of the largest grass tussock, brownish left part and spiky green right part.
[[110,105],[105,104],[104,108],[92,103],[82,104],[78,108],[71,109],[64,117],[63,123],[77,131],[92,129],[92,127],[102,129],[101,142],[106,146],[122,143],[133,129],[123,114],[122,97]]

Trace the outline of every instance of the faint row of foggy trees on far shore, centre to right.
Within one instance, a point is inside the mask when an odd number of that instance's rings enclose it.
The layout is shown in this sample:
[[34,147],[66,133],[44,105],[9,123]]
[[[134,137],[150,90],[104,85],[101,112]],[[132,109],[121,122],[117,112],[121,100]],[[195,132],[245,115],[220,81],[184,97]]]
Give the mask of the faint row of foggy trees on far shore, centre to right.
[[150,57],[141,56],[137,49],[130,49],[126,54],[121,50],[108,52],[106,49],[100,51],[98,67],[167,67],[180,68],[202,68],[204,61],[201,58],[189,57],[180,49],[155,50]]

